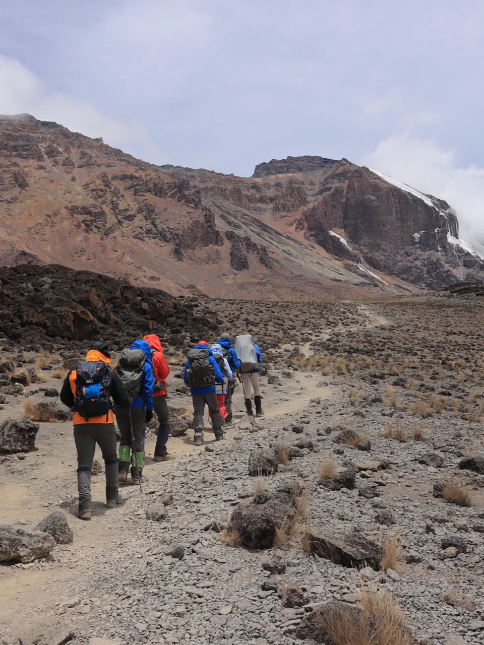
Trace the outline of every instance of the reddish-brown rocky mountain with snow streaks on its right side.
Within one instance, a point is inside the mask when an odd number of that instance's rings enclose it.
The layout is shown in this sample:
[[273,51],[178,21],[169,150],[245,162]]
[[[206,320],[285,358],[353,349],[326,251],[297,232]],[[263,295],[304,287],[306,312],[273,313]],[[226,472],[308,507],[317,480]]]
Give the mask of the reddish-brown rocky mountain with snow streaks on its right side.
[[343,159],[253,177],[153,166],[57,123],[0,117],[0,264],[64,264],[174,294],[365,299],[480,280],[455,213]]

